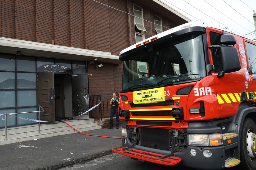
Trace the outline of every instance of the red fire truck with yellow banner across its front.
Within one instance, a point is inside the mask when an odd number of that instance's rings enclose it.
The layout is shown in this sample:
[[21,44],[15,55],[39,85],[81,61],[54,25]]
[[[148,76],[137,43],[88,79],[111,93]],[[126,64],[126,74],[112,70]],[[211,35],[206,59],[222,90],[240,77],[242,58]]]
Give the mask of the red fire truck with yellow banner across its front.
[[140,161],[256,169],[256,42],[195,21],[124,49],[122,148]]

